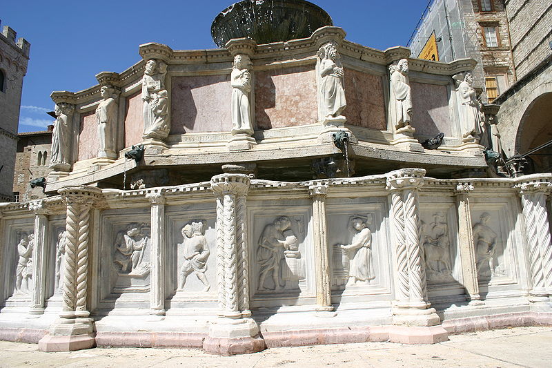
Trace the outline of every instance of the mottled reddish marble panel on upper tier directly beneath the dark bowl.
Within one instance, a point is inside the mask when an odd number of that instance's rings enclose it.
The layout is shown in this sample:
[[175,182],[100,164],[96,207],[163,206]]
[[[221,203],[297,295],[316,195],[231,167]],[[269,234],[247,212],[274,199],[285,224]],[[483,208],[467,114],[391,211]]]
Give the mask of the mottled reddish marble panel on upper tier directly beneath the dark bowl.
[[318,108],[313,67],[255,73],[257,128],[270,129],[316,123]]

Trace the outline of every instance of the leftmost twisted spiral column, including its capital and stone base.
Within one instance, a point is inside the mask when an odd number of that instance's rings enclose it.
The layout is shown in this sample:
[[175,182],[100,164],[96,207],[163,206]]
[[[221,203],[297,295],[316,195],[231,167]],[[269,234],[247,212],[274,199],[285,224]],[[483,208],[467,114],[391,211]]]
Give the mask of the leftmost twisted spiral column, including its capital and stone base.
[[77,186],[59,190],[67,206],[66,248],[63,263],[63,302],[50,334],[39,341],[43,351],[70,351],[95,346],[94,321],[88,311],[88,247],[90,212],[101,189]]

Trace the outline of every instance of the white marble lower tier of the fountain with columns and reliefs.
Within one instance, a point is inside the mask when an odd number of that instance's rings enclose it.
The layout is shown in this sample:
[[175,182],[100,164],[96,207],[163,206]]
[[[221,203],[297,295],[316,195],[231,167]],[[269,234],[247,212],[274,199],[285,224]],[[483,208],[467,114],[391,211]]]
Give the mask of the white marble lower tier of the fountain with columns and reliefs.
[[[27,327],[32,313],[35,339],[50,324],[57,331],[39,345],[53,349],[48,341],[67,332],[51,313],[71,319],[76,309],[91,313],[79,323],[97,331],[89,338],[98,345],[133,345],[127,338],[141,333],[200,347],[221,331],[243,339],[262,329],[267,344],[286,346],[289,331],[325,336],[320,316],[333,329],[354,320],[384,340],[406,334],[427,343],[446,338],[442,319],[455,329],[475,316],[530,313],[529,302],[552,292],[552,257],[538,251],[549,239],[552,176],[424,173],[297,183],[222,174],[137,191],[65,188],[62,197],[3,204],[0,336]],[[217,313],[233,322],[213,330]]]

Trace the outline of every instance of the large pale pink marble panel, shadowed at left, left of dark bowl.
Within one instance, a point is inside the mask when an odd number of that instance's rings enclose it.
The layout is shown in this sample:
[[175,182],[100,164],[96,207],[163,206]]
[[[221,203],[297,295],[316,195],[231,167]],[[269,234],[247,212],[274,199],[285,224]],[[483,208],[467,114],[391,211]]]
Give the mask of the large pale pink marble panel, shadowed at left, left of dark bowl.
[[232,130],[230,75],[173,77],[170,134]]

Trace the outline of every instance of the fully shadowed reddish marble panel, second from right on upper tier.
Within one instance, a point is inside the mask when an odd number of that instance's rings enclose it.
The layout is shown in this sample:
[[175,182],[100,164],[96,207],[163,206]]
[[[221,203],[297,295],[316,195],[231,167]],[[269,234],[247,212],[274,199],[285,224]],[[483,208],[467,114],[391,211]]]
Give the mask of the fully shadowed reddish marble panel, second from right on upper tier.
[[347,124],[387,130],[382,77],[352,69],[344,72]]

